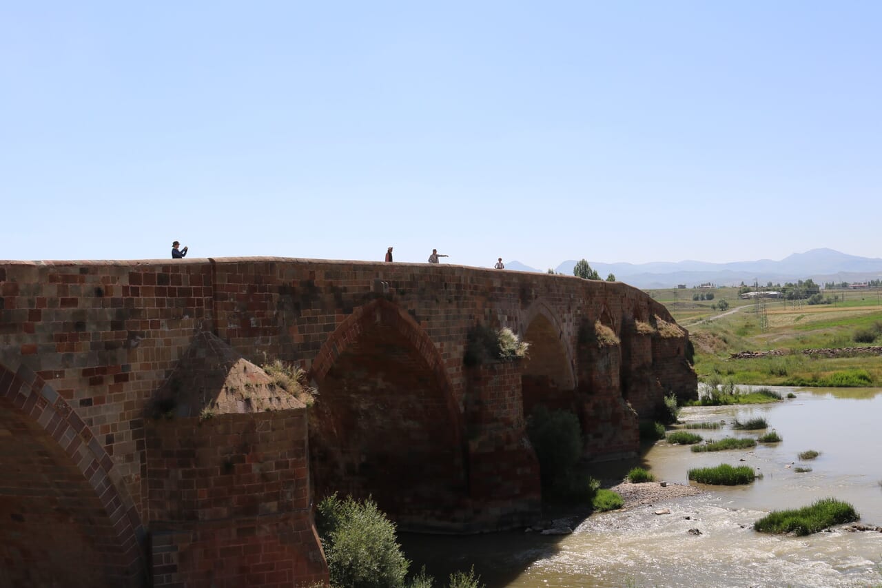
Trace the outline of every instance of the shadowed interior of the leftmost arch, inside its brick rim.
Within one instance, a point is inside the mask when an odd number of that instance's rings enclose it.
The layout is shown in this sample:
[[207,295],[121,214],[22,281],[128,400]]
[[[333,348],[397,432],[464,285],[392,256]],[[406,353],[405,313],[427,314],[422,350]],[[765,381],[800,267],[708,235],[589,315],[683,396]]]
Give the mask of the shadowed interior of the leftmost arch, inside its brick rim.
[[119,586],[107,511],[49,433],[0,398],[0,585]]

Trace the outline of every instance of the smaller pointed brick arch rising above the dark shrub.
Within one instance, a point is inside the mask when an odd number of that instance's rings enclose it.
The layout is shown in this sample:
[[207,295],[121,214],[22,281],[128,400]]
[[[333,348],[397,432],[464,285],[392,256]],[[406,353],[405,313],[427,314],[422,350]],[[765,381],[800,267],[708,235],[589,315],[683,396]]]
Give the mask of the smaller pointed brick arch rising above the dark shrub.
[[524,415],[528,416],[536,404],[569,407],[576,388],[572,341],[557,314],[542,300],[530,305],[524,324],[527,327],[521,337],[530,343],[521,372]]

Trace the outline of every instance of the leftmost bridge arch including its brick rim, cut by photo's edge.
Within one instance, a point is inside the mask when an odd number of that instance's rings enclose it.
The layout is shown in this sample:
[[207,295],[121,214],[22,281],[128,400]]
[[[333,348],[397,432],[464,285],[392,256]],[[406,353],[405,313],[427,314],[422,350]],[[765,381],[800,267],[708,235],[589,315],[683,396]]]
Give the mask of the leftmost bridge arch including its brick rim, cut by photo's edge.
[[113,468],[55,389],[0,365],[0,584],[144,583],[143,527]]

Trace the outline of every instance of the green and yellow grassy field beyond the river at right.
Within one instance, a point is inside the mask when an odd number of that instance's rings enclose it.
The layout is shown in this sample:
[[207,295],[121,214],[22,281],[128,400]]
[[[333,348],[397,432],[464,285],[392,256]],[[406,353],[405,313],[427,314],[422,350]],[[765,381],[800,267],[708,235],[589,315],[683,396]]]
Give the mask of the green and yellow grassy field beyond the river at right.
[[[765,331],[760,328],[756,302],[738,298],[737,291],[647,290],[689,329],[699,379],[766,386],[882,386],[882,356],[820,358],[802,353],[882,345],[882,290],[825,290],[825,296],[837,298],[830,305],[767,299]],[[714,299],[692,300],[696,293],[713,293]],[[729,305],[726,311],[712,308],[720,300]],[[781,351],[782,355],[729,358],[738,351]]]

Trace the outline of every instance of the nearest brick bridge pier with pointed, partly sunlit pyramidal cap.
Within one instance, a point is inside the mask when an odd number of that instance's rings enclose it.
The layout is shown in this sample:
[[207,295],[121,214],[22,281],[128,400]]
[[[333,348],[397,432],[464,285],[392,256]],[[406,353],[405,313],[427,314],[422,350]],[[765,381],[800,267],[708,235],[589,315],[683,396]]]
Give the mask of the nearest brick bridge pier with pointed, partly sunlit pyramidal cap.
[[327,579],[311,512],[306,406],[209,333],[146,411],[154,586]]

